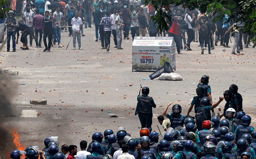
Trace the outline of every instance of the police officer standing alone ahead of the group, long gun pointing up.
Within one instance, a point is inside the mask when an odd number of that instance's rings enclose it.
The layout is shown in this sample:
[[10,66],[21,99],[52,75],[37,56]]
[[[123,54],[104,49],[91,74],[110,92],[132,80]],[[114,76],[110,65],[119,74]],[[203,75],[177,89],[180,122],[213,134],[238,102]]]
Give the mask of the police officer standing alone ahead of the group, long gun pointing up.
[[156,104],[152,97],[148,96],[149,88],[142,88],[142,95],[138,95],[137,97],[137,107],[135,111],[135,115],[139,114],[139,121],[141,124],[141,128],[148,128],[149,131],[152,131],[152,117],[153,111],[152,107],[156,108]]

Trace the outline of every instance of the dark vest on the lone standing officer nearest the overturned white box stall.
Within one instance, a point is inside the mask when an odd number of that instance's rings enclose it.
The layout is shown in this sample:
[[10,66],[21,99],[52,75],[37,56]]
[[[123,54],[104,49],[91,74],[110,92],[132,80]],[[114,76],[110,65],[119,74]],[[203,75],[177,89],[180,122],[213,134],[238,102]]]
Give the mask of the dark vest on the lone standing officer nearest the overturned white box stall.
[[143,97],[140,95],[136,107],[136,112],[152,114],[151,97]]

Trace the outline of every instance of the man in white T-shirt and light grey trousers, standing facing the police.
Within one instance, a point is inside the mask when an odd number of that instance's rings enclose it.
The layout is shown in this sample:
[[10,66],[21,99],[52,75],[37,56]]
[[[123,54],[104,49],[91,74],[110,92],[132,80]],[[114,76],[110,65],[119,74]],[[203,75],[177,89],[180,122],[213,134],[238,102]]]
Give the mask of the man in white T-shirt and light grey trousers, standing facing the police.
[[71,25],[73,30],[73,49],[76,49],[76,37],[78,43],[78,49],[83,49],[81,47],[81,27],[82,27],[82,19],[78,16],[78,11],[75,11],[75,17],[71,19]]

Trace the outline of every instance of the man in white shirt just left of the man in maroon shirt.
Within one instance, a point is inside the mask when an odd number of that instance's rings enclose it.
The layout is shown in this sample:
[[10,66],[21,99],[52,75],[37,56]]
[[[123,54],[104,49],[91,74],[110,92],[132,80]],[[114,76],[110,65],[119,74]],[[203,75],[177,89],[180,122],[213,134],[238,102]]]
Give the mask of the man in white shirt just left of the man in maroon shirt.
[[35,13],[32,10],[30,10],[30,4],[26,4],[26,12],[23,13],[22,19],[30,29],[30,34],[29,34],[30,46],[32,46],[32,42],[34,38],[34,30],[32,28],[34,16],[35,16]]

